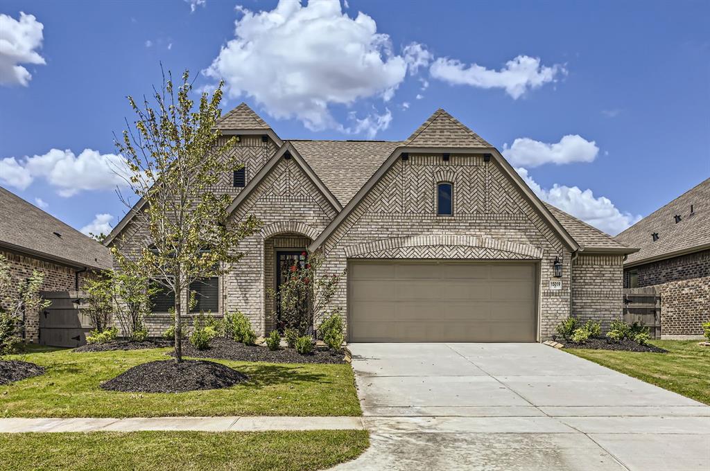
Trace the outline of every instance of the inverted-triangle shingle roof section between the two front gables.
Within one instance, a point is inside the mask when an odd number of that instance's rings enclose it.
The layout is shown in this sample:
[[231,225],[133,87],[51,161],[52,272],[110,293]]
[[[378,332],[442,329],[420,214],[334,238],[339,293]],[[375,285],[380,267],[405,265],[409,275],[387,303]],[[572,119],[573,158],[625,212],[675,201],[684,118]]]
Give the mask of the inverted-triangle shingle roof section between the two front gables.
[[290,140],[342,206],[402,143],[372,140]]

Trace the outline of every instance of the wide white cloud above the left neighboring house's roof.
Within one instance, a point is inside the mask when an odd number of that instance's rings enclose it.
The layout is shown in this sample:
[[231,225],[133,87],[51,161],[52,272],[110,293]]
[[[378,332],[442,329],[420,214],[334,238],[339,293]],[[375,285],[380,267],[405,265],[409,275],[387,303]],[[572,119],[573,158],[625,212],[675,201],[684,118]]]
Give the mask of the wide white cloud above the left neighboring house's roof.
[[124,157],[92,149],[84,149],[79,155],[71,150],[52,149],[21,160],[15,157],[0,160],[0,181],[5,184],[26,189],[34,179],[43,178],[65,197],[82,190],[125,187],[126,174]]

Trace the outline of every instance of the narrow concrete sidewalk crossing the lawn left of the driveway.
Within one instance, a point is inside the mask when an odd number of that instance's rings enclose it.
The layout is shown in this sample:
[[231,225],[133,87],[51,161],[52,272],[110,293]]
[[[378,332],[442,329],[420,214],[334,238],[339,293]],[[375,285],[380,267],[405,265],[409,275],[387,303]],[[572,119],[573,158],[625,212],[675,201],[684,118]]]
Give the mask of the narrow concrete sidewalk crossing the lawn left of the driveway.
[[136,431],[261,432],[302,430],[364,430],[361,417],[136,417],[131,419],[0,419],[0,433],[136,432]]

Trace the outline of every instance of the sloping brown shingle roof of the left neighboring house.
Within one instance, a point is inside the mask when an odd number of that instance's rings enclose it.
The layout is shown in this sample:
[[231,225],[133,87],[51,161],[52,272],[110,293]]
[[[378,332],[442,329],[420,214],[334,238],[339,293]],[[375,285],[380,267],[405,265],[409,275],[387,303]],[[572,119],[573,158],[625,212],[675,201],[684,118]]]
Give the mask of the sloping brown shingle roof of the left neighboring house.
[[0,246],[73,267],[111,268],[96,240],[0,187]]

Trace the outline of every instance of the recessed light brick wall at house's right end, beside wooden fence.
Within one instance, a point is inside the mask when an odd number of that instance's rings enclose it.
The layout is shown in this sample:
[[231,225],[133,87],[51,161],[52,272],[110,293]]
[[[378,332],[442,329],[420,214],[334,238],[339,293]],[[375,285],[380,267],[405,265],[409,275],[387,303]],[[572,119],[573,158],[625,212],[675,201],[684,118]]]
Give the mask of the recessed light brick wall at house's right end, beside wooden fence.
[[609,322],[623,314],[623,256],[579,255],[572,262],[572,315]]

